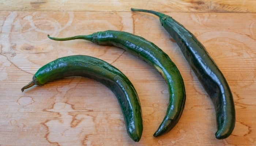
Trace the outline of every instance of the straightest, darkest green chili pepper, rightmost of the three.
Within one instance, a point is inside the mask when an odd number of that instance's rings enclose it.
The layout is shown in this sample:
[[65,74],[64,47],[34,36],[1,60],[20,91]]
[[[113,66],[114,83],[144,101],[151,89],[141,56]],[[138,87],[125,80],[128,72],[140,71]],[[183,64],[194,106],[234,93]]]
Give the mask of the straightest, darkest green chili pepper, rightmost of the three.
[[151,10],[134,8],[131,10],[148,12],[159,17],[162,26],[176,41],[214,104],[217,121],[215,137],[217,139],[229,137],[236,123],[233,96],[225,77],[207,53],[206,48],[190,31],[172,17]]

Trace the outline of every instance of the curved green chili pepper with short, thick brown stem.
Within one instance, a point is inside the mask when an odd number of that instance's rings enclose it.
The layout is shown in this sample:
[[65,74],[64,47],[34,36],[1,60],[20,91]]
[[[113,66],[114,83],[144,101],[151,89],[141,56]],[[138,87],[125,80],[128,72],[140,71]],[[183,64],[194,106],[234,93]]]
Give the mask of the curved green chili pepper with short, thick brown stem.
[[143,126],[138,94],[120,70],[101,59],[86,55],[58,58],[42,66],[34,74],[33,81],[21,90],[71,76],[89,77],[106,85],[117,97],[129,137],[135,142],[140,140]]

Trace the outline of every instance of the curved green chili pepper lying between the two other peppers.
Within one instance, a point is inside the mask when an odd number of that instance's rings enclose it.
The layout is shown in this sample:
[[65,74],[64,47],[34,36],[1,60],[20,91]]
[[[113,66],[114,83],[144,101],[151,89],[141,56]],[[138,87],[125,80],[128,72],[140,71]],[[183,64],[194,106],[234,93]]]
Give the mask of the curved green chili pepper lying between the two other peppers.
[[182,111],[184,110],[186,100],[184,82],[176,65],[169,56],[154,43],[128,32],[113,30],[69,38],[49,38],[56,41],[85,39],[99,45],[113,45],[142,58],[162,75],[169,88],[169,104],[166,115],[154,135],[170,131],[178,123]]

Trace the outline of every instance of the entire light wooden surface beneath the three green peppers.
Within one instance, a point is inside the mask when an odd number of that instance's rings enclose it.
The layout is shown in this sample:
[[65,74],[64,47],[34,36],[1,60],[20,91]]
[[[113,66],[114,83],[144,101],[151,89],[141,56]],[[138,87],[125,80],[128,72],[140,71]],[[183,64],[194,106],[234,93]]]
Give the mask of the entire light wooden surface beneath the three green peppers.
[[[225,75],[236,104],[236,127],[215,139],[212,102],[180,49],[151,14],[164,12],[203,43]],[[1,146],[254,146],[256,145],[256,2],[155,1],[0,1],[0,145]],[[111,46],[53,37],[121,30],[154,42],[175,62],[185,82],[187,100],[176,127],[154,138],[166,112],[168,90],[159,73],[127,51]],[[143,135],[133,142],[113,93],[89,78],[71,77],[21,92],[44,64],[67,55],[103,59],[135,86],[143,112]]]

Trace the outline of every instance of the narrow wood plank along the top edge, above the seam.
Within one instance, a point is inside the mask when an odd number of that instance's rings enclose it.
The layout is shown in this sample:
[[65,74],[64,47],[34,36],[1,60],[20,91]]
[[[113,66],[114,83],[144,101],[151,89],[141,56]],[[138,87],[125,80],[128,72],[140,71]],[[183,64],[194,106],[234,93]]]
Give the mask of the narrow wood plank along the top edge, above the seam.
[[161,12],[256,12],[255,0],[3,0],[1,11],[130,11],[131,7]]

